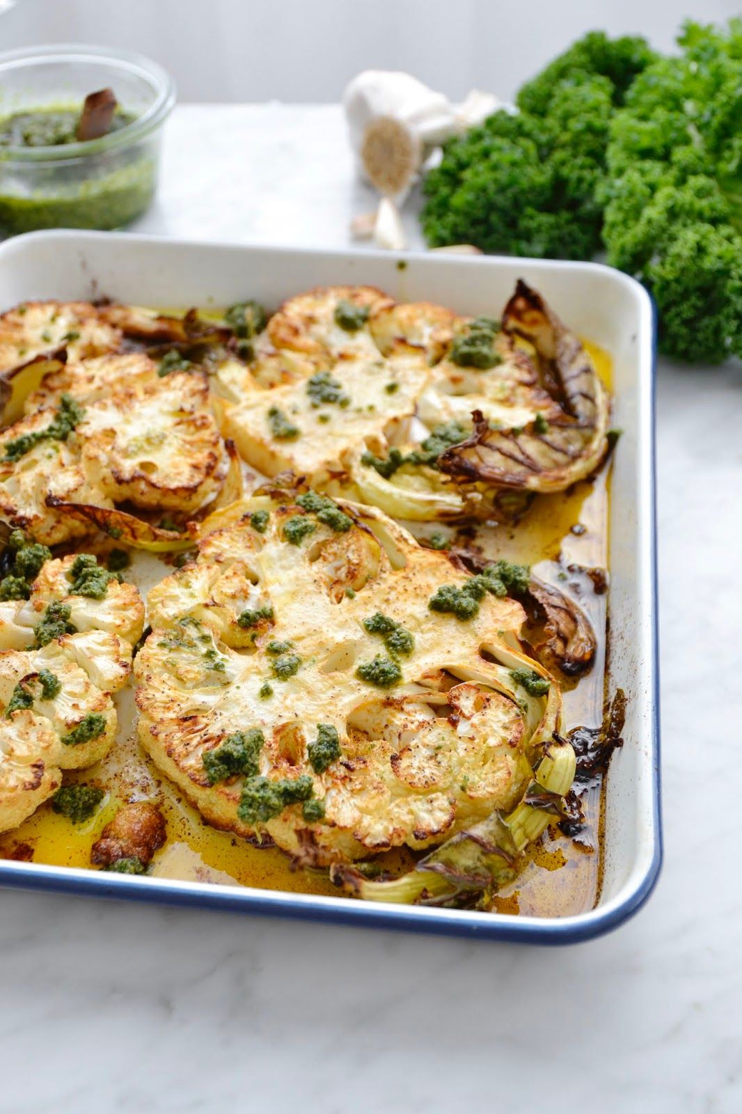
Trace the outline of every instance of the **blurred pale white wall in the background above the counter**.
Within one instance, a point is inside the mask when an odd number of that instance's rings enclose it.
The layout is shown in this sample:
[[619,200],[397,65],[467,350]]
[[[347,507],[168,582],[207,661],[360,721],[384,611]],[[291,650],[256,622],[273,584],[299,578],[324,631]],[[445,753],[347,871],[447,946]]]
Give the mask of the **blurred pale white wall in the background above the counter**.
[[[4,0],[7,2],[7,0]],[[182,100],[330,101],[360,69],[408,69],[452,97],[512,96],[589,28],[668,49],[687,16],[723,20],[739,0],[16,0],[0,49],[100,42],[140,50]]]

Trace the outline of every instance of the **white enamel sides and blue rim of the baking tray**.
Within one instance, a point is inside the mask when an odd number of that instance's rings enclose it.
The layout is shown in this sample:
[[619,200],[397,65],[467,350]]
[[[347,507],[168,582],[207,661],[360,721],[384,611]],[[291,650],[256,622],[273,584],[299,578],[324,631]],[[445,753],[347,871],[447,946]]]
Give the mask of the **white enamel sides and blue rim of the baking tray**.
[[566,944],[615,928],[648,897],[662,859],[654,518],[654,314],[632,278],[590,263],[412,253],[321,252],[183,243],[111,233],[42,232],[0,245],[0,307],[30,299],[108,295],[143,305],[275,306],[310,286],[368,283],[404,301],[497,311],[524,277],[613,358],[614,423],[608,692],[628,697],[624,746],[607,776],[605,870],[596,908],[533,918],[365,903],[271,890],[0,861],[0,883],[211,906],[411,931]]

